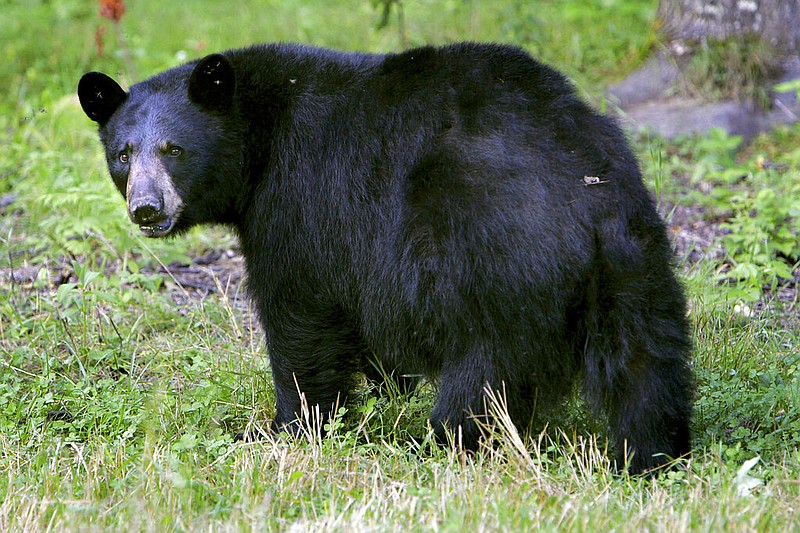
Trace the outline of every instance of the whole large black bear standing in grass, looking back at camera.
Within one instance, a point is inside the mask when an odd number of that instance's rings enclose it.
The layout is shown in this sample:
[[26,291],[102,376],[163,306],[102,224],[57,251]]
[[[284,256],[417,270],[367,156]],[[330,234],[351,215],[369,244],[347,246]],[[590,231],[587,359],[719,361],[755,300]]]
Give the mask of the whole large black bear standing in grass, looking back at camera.
[[238,234],[276,429],[380,367],[438,380],[466,448],[486,387],[524,429],[579,382],[631,472],[690,451],[665,226],[620,129],[524,51],[257,45],[78,95],[145,235]]

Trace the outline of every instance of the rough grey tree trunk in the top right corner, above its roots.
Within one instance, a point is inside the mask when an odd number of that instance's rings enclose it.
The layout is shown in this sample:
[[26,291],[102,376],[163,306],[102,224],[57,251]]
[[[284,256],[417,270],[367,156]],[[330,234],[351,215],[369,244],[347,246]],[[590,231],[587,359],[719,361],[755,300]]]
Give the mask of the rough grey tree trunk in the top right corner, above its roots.
[[781,55],[800,48],[798,0],[661,0],[657,24],[670,39],[760,37]]

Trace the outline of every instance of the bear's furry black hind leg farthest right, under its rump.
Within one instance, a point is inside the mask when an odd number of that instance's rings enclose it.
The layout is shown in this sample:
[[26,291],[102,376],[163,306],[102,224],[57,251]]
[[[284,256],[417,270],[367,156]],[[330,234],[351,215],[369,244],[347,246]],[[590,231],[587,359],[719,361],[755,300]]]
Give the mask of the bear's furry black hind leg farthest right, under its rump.
[[628,464],[632,474],[691,449],[689,326],[677,281],[669,271],[661,276],[666,283],[660,284],[658,296],[620,295],[598,313],[584,354],[587,399],[605,410],[617,467]]

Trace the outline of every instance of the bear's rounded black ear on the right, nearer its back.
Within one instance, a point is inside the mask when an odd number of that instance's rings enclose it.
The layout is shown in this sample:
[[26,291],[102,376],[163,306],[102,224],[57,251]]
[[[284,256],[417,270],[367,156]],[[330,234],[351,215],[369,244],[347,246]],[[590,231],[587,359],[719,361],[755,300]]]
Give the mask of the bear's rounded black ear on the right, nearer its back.
[[189,99],[201,108],[227,111],[236,89],[236,74],[222,54],[211,54],[200,60],[189,78]]

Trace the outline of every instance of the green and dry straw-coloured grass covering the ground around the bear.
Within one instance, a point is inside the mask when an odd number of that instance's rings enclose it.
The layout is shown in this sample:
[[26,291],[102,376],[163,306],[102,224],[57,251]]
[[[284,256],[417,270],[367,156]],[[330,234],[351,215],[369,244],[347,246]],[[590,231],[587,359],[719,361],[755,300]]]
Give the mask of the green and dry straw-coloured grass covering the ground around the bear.
[[[646,481],[611,472],[603,432],[579,402],[529,437],[501,430],[498,446],[474,457],[446,447],[420,456],[407,436],[426,434],[429,386],[402,397],[365,385],[326,439],[234,442],[271,418],[269,367],[240,282],[195,258],[236,243],[222,228],[166,242],[136,236],[74,97],[85,70],[134,81],[254,41],[391,50],[404,40],[483,39],[523,44],[598,98],[647,49],[655,1],[490,8],[409,0],[405,35],[392,19],[377,30],[380,12],[366,0],[324,9],[304,1],[129,4],[119,28],[135,72],[96,5],[3,5],[0,196],[16,199],[0,208],[0,529],[796,528],[796,296],[777,297],[785,279],[765,291],[765,277],[728,273],[734,260],[756,272],[775,261],[796,268],[784,230],[796,243],[800,128],[747,147],[722,134],[637,141],[668,215],[671,206],[694,207],[745,228],[746,211],[772,225],[759,243],[788,252],[758,263],[725,248],[755,244],[720,235],[719,255],[684,265],[696,342],[695,454],[685,468]],[[94,36],[104,26],[97,57]],[[763,189],[786,202],[764,208]],[[749,207],[735,207],[734,196]],[[186,265],[200,289],[178,275]]]

